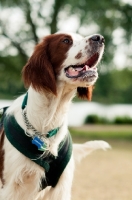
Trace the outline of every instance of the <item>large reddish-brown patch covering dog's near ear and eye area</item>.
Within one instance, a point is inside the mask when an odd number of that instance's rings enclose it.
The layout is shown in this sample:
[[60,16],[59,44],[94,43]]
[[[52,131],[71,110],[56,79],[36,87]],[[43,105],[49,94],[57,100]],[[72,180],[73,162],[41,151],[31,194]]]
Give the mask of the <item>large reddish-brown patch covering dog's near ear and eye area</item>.
[[[69,43],[65,43],[68,40]],[[52,34],[35,47],[34,53],[22,70],[26,87],[32,85],[37,91],[50,91],[56,95],[56,77],[72,46],[67,34]]]

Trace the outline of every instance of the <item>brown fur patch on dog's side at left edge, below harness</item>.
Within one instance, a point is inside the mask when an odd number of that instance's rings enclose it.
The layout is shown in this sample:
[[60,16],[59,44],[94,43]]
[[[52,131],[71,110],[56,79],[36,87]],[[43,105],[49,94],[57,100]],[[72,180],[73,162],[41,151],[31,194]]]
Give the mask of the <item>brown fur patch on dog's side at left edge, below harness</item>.
[[0,179],[2,181],[2,184],[4,184],[3,179],[3,169],[4,169],[4,150],[3,150],[3,144],[4,144],[4,129],[0,129]]

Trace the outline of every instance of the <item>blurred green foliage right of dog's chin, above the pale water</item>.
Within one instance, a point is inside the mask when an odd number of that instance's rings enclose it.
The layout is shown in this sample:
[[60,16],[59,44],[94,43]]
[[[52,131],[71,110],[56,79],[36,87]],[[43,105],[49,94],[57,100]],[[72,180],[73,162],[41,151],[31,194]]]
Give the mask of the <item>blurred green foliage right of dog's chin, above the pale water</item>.
[[103,103],[132,103],[132,71],[112,70],[100,74],[93,92],[93,101]]

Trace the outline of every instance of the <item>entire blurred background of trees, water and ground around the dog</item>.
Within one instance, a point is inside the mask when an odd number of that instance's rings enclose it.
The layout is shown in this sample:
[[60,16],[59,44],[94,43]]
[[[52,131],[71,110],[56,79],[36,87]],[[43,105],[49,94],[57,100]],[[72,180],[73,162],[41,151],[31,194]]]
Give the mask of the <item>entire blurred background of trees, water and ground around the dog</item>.
[[[0,0],[0,107],[25,92],[23,66],[41,38],[59,30],[105,37],[92,102],[74,99],[69,126],[74,141],[105,139],[113,150],[85,161],[88,179],[81,181],[83,190],[75,184],[73,200],[132,199],[131,0]],[[103,168],[98,172],[99,158]],[[93,170],[96,176],[89,173]],[[76,175],[76,183],[81,177]]]

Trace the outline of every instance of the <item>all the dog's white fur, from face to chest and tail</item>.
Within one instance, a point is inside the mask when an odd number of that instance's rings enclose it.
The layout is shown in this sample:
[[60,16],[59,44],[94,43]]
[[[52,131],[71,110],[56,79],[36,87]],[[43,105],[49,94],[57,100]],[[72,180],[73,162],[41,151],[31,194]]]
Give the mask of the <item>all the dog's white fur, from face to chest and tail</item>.
[[[84,62],[86,51],[84,50],[87,38],[78,37],[74,34],[74,45],[69,50],[67,58],[63,63],[57,81],[57,96],[51,93],[39,93],[32,87],[28,90],[27,116],[31,124],[43,134],[60,126],[60,130],[56,136],[49,139],[49,151],[57,156],[57,149],[60,142],[67,134],[67,114],[72,98],[75,95],[76,87],[86,83],[76,83],[69,80],[64,74],[64,67],[75,62],[76,53],[82,49],[84,57],[78,62]],[[89,47],[90,48],[90,47]],[[77,50],[76,50],[77,49]],[[100,58],[102,56],[100,53]],[[99,59],[100,59],[99,58]],[[96,78],[93,82],[96,81]],[[92,85],[93,82],[89,82]],[[21,104],[23,101],[21,96],[14,101],[8,109],[7,114],[13,114],[19,125],[26,129],[21,114]],[[32,134],[32,132],[30,133]],[[107,149],[108,143],[104,141],[91,141],[84,144],[73,145],[73,155],[65,168],[60,180],[55,188],[47,187],[43,191],[39,191],[40,178],[44,175],[44,169],[30,161],[20,152],[18,152],[5,138],[5,162],[4,162],[4,179],[5,185],[0,190],[0,200],[70,200],[71,186],[74,172],[74,162],[80,161],[83,157],[96,149]]]

